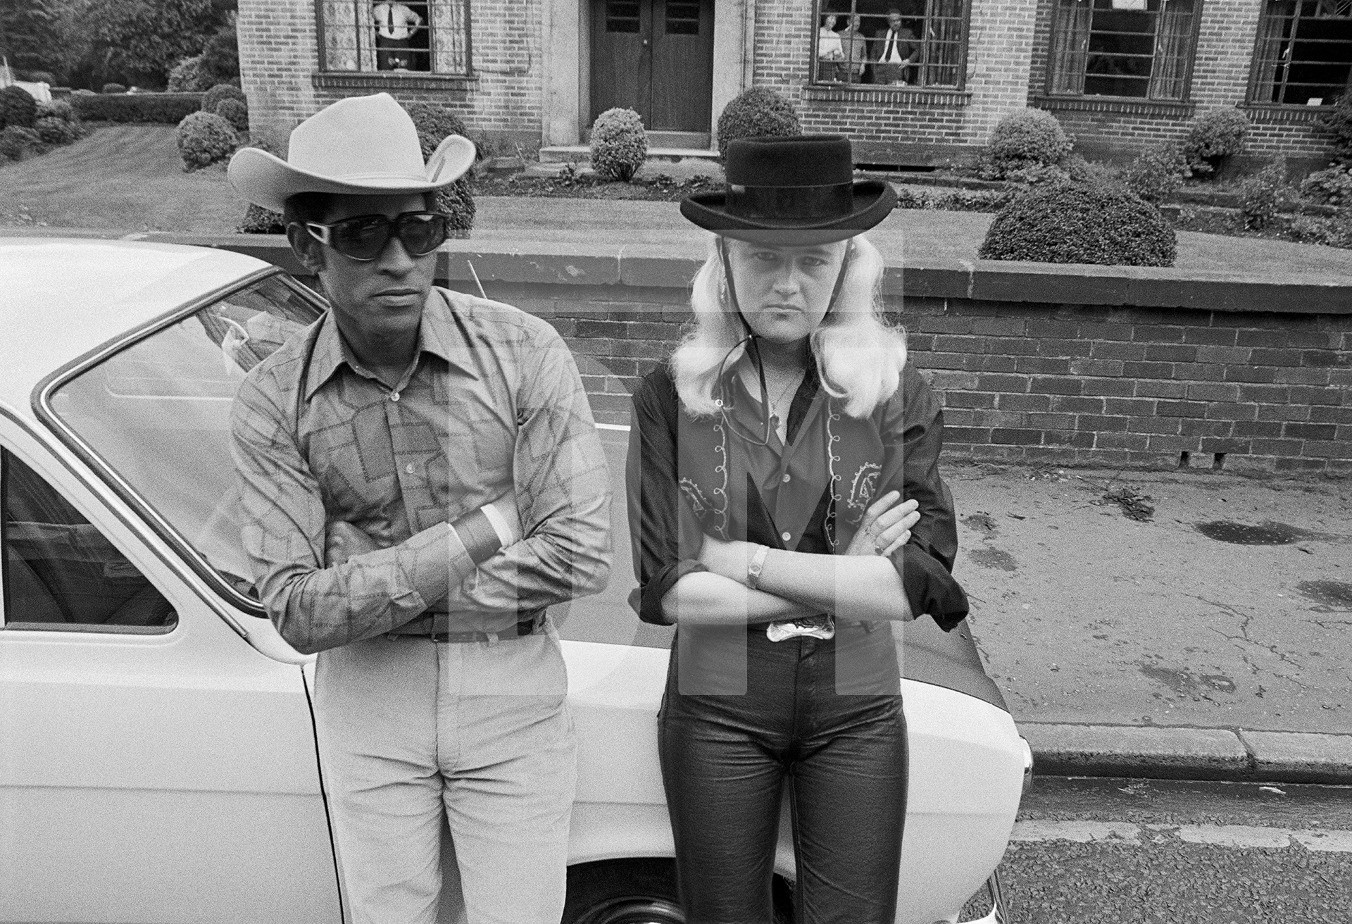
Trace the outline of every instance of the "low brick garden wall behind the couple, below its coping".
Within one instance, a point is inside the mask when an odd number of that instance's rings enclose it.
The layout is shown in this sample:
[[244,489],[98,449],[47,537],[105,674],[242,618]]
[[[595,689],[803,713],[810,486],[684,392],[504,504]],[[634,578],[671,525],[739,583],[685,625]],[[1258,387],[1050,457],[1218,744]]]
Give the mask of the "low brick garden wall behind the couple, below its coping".
[[[466,291],[470,287],[464,287]],[[681,288],[491,285],[548,318],[596,419],[688,319]],[[944,405],[945,445],[977,460],[1352,475],[1352,317],[890,298]],[[1192,463],[1195,464],[1195,459]]]

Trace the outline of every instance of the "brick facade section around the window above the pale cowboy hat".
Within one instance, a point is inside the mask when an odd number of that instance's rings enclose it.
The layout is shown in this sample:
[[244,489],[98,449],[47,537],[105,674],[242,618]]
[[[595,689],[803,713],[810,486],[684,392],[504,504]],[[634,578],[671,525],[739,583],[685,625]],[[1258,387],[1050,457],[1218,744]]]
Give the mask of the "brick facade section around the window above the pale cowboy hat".
[[314,0],[239,0],[239,70],[256,130],[285,137],[300,120],[345,96],[389,92],[404,101],[441,103],[493,146],[539,146],[544,0],[475,0],[470,19],[475,77],[412,88],[369,74],[361,87],[316,88]]

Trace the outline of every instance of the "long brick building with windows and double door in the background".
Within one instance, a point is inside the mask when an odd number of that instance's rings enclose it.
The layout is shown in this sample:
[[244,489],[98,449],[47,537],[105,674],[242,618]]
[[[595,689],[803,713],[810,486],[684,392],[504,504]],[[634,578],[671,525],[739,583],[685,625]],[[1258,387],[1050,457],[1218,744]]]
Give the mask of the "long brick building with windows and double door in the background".
[[1318,164],[1352,72],[1352,0],[239,0],[238,30],[258,127],[384,89],[502,153],[577,143],[610,106],[707,147],[754,84],[861,162],[969,158],[1022,106],[1119,157],[1238,106],[1251,153]]

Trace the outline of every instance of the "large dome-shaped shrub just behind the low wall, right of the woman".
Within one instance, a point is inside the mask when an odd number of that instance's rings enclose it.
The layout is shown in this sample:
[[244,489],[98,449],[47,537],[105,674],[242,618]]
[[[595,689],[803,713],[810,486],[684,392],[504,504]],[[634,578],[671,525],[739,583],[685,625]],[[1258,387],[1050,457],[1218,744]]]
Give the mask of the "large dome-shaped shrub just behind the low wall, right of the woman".
[[1033,187],[1002,208],[977,256],[1172,267],[1176,238],[1153,206],[1121,187],[1057,183]]

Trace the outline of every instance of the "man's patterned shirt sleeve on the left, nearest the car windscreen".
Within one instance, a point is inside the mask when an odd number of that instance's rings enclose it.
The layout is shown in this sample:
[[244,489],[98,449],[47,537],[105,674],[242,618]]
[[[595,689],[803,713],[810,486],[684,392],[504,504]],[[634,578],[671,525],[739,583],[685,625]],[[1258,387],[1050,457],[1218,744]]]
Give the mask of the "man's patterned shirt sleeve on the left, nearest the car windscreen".
[[231,451],[258,598],[293,648],[314,653],[389,632],[475,571],[445,522],[326,568],[323,496],[287,417],[250,376],[231,410]]

